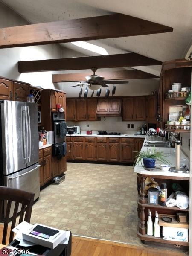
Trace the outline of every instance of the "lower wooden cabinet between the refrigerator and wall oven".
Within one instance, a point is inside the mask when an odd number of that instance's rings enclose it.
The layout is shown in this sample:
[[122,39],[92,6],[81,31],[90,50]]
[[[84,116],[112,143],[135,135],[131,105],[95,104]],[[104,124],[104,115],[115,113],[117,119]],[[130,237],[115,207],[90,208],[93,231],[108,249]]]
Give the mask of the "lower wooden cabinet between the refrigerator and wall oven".
[[40,187],[52,179],[52,147],[39,150]]

